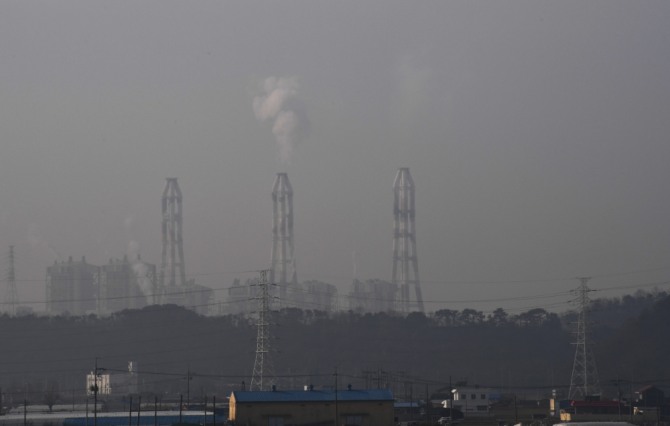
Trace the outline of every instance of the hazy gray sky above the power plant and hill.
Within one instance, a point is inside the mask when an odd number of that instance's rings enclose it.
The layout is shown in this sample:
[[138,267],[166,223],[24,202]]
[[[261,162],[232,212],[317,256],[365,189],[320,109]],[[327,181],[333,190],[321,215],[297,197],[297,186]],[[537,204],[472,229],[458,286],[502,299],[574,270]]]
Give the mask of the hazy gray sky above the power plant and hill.
[[354,251],[390,279],[409,167],[428,310],[668,281],[669,21],[666,0],[3,1],[0,252],[24,302],[57,258],[159,265],[178,177],[187,275],[223,289],[268,266],[287,172],[299,278],[344,294]]

